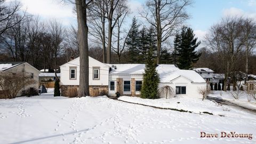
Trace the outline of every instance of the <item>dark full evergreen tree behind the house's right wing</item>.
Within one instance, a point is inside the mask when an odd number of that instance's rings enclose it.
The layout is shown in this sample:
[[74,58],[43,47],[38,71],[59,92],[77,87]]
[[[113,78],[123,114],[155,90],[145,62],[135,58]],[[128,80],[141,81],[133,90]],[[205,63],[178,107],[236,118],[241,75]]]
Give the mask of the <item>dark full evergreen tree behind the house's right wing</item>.
[[183,27],[181,34],[175,38],[174,47],[177,46],[177,65],[180,69],[190,69],[201,56],[201,53],[197,54],[195,51],[200,44],[196,41],[197,38],[195,38],[193,30],[188,27]]

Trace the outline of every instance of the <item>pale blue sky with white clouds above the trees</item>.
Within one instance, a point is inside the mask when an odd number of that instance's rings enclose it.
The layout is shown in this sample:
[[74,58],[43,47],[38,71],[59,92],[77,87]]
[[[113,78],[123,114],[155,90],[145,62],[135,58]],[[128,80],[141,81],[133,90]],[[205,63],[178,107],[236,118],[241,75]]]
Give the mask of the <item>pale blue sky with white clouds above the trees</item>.
[[[73,5],[63,4],[61,0],[20,1],[22,10],[39,15],[43,20],[55,18],[66,26],[76,23]],[[131,18],[134,15],[138,17],[138,11],[145,2],[146,0],[128,0]],[[256,0],[194,0],[193,5],[187,7],[187,12],[191,18],[187,20],[186,25],[194,30],[198,39],[203,39],[212,25],[228,15],[244,15],[256,20]]]

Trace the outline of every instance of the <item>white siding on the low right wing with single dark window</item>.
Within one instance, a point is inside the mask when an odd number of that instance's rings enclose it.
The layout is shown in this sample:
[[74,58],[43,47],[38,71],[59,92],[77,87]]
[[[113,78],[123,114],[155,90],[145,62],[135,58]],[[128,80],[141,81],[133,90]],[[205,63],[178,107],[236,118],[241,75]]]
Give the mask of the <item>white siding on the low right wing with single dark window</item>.
[[186,86],[186,94],[178,94],[178,96],[181,95],[183,97],[202,99],[202,95],[198,93],[198,89],[201,87],[205,87],[206,83],[194,83],[191,82],[189,79],[180,76],[178,78],[175,78],[172,82],[159,83],[159,87],[165,85],[171,86],[174,90],[174,94],[176,93],[176,86]]

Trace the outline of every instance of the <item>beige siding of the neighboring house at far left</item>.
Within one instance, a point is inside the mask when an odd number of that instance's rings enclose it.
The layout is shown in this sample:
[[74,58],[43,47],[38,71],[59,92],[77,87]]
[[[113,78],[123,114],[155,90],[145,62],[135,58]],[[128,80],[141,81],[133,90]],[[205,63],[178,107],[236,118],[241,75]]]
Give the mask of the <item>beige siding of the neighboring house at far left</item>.
[[[10,69],[5,70],[6,72],[11,72],[11,73],[17,73],[17,72],[22,72],[24,70],[24,72],[26,73],[33,73],[34,74],[34,80],[36,81],[35,84],[29,85],[27,87],[23,87],[23,89],[18,93],[17,97],[19,97],[21,95],[21,92],[23,90],[28,89],[29,87],[34,87],[35,89],[38,89],[38,85],[39,85],[39,73],[40,71],[37,70],[36,68],[34,68],[33,66],[31,66],[29,63],[25,62],[25,63],[21,63],[18,66],[12,67]],[[4,71],[4,72],[5,72]]]

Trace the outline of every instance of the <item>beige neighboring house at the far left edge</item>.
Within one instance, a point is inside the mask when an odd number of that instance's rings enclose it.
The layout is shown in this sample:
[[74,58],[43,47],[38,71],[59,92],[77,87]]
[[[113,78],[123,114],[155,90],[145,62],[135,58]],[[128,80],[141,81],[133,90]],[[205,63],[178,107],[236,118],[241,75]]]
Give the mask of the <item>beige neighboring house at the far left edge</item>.
[[[0,72],[10,72],[10,73],[18,73],[18,72],[25,72],[29,73],[31,78],[34,78],[36,83],[33,85],[30,85],[28,87],[34,87],[35,89],[38,89],[38,75],[41,73],[38,69],[31,66],[27,62],[0,62]],[[27,87],[24,87],[23,89],[26,89]],[[17,95],[20,96],[21,92]]]

